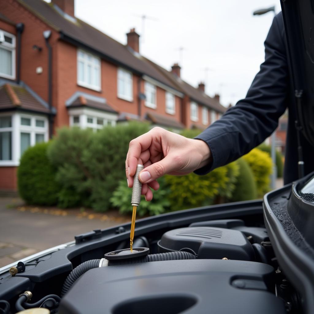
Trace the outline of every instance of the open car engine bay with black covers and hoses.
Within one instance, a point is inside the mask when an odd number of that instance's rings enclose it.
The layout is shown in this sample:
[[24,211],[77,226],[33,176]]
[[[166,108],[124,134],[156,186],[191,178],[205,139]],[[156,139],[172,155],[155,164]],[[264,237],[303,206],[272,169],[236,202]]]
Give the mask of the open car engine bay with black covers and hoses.
[[[282,189],[281,202],[288,197]],[[129,250],[129,235],[130,224],[93,230],[20,261],[14,276],[0,271],[4,313],[39,306],[61,314],[303,313],[262,201],[139,219],[136,253],[113,258]]]

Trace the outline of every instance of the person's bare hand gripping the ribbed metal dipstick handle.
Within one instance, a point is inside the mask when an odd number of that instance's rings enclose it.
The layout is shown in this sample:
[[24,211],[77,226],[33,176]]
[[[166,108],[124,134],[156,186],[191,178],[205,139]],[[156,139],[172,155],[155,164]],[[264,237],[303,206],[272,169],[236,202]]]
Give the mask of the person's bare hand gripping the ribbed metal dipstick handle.
[[210,159],[210,149],[202,140],[185,138],[154,127],[130,142],[125,161],[127,185],[133,187],[136,166],[144,165],[139,180],[142,182],[142,194],[150,201],[153,193],[149,187],[159,189],[156,179],[165,174],[186,175],[207,165]]

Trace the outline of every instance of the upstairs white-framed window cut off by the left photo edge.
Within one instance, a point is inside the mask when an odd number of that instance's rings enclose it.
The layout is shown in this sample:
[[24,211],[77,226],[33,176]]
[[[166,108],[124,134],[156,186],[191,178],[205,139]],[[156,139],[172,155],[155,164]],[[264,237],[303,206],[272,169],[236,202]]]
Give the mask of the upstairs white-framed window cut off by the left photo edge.
[[0,76],[15,79],[15,36],[0,30]]

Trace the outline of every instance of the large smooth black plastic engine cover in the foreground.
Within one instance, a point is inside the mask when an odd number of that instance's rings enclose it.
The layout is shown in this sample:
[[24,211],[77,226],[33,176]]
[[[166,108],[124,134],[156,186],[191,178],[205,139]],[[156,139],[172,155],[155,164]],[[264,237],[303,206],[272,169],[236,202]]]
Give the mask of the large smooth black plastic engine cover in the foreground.
[[180,260],[90,269],[59,314],[284,314],[274,269],[247,261]]

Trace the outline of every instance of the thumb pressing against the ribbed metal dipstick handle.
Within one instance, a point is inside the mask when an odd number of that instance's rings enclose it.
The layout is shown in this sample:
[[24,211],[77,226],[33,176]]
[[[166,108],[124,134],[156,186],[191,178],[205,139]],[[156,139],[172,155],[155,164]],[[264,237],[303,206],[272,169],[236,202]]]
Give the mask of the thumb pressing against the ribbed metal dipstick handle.
[[174,159],[171,158],[171,155],[167,155],[164,159],[143,169],[139,174],[139,180],[142,183],[149,183],[177,168],[178,165]]

